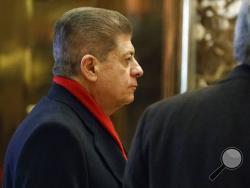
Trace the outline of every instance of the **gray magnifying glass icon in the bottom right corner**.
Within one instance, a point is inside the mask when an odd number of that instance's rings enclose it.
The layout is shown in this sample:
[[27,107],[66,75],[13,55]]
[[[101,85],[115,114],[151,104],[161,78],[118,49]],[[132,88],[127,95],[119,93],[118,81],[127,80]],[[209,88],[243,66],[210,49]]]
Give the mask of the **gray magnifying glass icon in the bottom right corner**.
[[225,149],[221,155],[221,165],[209,175],[209,179],[214,181],[224,169],[236,170],[242,165],[242,162],[243,154],[238,148]]

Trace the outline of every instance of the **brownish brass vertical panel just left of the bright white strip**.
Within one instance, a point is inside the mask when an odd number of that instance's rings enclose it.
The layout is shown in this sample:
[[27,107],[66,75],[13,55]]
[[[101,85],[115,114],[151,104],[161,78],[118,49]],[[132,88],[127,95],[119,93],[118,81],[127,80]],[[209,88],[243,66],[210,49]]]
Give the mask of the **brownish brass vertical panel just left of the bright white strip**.
[[179,92],[181,62],[182,1],[164,0],[163,95]]

